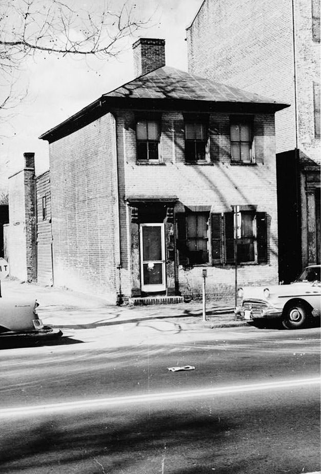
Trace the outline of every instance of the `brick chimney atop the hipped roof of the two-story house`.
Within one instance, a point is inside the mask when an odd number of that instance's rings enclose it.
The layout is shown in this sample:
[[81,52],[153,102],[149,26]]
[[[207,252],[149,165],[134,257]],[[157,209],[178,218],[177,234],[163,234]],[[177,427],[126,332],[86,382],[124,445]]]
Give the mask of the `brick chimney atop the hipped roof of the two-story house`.
[[165,39],[139,38],[133,44],[135,77],[165,66]]

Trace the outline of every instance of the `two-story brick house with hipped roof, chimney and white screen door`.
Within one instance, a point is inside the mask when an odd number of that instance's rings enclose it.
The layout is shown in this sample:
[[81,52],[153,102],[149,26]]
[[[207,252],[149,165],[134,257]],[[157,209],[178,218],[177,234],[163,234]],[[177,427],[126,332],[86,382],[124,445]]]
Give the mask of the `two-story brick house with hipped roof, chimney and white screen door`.
[[[165,66],[165,41],[134,45],[136,78],[44,133],[55,285],[112,301],[233,295],[277,281],[274,114],[287,107]],[[39,196],[41,198],[41,196]]]

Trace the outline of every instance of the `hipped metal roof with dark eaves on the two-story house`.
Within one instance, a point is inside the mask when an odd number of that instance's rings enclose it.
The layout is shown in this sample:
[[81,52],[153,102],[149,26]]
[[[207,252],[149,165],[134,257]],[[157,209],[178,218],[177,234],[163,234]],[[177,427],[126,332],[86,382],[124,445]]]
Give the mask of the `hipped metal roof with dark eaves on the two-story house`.
[[55,141],[106,114],[112,107],[157,110],[274,113],[289,107],[273,99],[164,66],[103,94],[39,138]]

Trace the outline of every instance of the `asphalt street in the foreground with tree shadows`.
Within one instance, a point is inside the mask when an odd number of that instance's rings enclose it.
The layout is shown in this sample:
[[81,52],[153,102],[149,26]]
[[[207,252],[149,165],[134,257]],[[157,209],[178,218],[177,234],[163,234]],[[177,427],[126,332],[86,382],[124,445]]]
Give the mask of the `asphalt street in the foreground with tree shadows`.
[[318,471],[319,348],[318,328],[167,321],[4,348],[0,471]]

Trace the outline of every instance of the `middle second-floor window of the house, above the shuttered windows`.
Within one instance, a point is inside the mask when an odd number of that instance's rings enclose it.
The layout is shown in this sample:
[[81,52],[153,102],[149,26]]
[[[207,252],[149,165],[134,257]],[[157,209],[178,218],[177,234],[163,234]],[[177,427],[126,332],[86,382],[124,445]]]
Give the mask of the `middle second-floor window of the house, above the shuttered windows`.
[[207,125],[201,121],[185,122],[185,159],[187,162],[206,159]]

